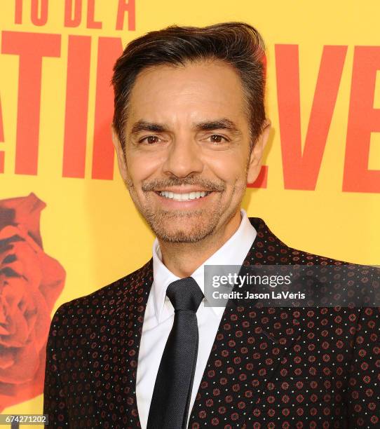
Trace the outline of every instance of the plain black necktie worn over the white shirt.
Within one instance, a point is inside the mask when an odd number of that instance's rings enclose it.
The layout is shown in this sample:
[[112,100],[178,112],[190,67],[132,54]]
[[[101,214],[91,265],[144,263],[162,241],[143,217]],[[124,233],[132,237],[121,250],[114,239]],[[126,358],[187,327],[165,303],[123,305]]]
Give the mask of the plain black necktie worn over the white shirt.
[[147,429],[186,429],[198,355],[196,311],[204,295],[192,277],[170,283],[166,295],[175,316],[154,384]]

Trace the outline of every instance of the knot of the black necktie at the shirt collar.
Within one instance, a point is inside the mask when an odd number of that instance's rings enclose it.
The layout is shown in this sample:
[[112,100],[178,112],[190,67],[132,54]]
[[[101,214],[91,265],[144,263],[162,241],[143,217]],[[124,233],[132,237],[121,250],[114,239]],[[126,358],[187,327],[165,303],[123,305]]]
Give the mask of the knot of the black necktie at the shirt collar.
[[175,311],[190,310],[196,312],[204,298],[201,287],[192,277],[180,278],[170,283],[166,295]]

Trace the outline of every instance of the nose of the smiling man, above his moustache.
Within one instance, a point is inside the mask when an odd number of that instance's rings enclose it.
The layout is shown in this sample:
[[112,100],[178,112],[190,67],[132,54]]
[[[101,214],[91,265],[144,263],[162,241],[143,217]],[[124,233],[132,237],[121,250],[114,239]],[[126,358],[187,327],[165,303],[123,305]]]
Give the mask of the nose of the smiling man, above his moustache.
[[163,163],[163,172],[166,175],[186,177],[202,170],[201,148],[194,139],[186,135],[174,139]]

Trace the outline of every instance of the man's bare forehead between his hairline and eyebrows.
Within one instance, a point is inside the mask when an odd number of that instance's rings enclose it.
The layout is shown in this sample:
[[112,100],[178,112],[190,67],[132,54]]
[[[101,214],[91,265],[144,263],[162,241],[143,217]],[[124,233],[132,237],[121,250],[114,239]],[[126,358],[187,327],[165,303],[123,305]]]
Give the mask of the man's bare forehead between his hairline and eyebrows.
[[141,119],[163,123],[221,117],[244,121],[243,86],[237,71],[220,60],[149,67],[137,76],[128,112],[127,128]]

